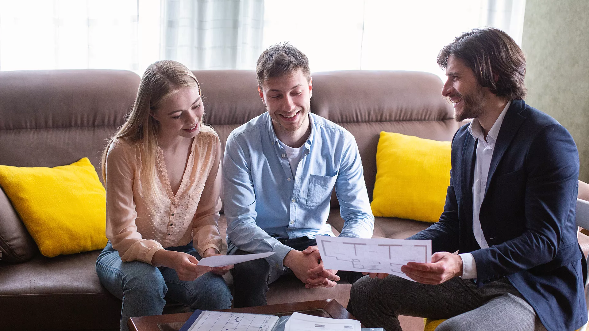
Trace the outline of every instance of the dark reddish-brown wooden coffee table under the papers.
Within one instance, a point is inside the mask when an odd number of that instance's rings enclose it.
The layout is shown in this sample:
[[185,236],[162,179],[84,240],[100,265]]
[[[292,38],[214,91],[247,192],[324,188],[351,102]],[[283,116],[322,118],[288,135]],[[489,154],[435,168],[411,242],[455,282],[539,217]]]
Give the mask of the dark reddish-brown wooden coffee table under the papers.
[[[292,315],[294,312],[305,313],[333,319],[355,319],[348,310],[335,299],[271,304],[236,309],[224,309],[220,312],[236,312],[266,315]],[[131,317],[127,323],[131,331],[177,331],[192,313],[179,313],[157,316]]]

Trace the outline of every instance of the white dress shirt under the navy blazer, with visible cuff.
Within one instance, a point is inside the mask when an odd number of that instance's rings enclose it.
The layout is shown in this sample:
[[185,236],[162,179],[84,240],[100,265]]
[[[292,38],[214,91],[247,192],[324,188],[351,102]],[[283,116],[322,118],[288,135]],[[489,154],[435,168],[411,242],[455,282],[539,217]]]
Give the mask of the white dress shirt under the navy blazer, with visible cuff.
[[[487,243],[487,239],[485,239],[485,235],[482,233],[479,213],[481,211],[482,200],[485,198],[485,191],[487,191],[487,178],[489,176],[491,158],[495,150],[495,142],[497,141],[497,135],[499,134],[499,129],[501,128],[509,105],[511,105],[511,101],[507,102],[507,105],[505,105],[505,108],[499,114],[495,124],[489,130],[486,140],[482,132],[481,123],[479,123],[477,118],[472,120],[468,127],[468,132],[472,137],[478,139],[475,173],[472,183],[472,232],[481,249],[488,248],[489,244]],[[477,278],[477,264],[472,254],[464,253],[458,254],[458,256],[462,258],[462,278]]]

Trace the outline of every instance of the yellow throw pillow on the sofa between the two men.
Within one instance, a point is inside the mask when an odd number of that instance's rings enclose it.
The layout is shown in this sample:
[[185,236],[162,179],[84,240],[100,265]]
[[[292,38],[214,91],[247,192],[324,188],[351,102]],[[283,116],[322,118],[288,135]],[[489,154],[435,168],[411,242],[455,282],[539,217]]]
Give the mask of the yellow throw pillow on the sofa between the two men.
[[450,141],[382,131],[376,150],[374,216],[439,220],[450,184]]

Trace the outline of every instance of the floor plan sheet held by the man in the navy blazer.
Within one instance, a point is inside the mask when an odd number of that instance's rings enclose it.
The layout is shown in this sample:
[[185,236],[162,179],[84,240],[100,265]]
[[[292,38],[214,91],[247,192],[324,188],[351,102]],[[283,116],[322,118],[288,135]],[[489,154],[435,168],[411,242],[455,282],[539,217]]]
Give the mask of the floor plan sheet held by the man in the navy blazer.
[[401,266],[408,262],[430,263],[432,259],[431,240],[329,236],[317,236],[315,240],[326,269],[389,273],[412,280],[401,272]]

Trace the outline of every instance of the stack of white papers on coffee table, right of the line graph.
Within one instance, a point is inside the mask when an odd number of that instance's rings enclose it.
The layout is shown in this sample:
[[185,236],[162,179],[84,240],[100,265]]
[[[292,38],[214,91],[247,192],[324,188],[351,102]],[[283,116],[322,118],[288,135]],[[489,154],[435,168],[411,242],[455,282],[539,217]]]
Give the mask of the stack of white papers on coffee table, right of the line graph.
[[360,331],[360,321],[328,319],[294,312],[287,320],[284,331]]

